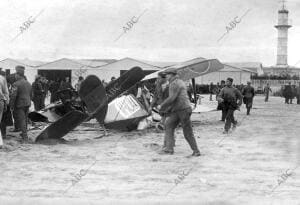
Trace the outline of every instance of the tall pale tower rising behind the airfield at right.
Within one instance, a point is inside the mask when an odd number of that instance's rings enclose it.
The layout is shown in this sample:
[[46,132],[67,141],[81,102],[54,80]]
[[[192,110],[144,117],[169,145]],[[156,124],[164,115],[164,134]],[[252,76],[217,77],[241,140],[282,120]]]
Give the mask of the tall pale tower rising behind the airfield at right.
[[278,67],[288,67],[287,62],[287,43],[288,43],[288,29],[292,27],[289,25],[289,11],[285,8],[285,0],[282,0],[282,8],[278,11],[278,24],[275,28],[278,30],[277,41],[277,63]]

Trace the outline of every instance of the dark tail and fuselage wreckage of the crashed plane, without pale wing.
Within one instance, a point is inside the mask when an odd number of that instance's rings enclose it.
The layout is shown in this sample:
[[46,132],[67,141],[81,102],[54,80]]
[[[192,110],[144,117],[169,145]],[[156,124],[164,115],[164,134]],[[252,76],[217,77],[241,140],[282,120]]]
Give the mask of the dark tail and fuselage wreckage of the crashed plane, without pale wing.
[[[54,122],[48,125],[35,138],[35,142],[43,139],[59,139],[73,130],[84,121],[96,118],[101,125],[107,128],[119,130],[134,129],[140,119],[149,115],[143,105],[132,95],[120,95],[133,87],[145,77],[140,67],[134,67],[121,75],[115,81],[110,82],[105,88],[97,76],[88,76],[81,84],[79,97],[84,102],[86,110],[74,108],[70,101],[48,106],[39,112],[29,115],[32,121],[43,119],[46,122]],[[60,115],[57,113],[61,107],[69,107],[71,110]]]

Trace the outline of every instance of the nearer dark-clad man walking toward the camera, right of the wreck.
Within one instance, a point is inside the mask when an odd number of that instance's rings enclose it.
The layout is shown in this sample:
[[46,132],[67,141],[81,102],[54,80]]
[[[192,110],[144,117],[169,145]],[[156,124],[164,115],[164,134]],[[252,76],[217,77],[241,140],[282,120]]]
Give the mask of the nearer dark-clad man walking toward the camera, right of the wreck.
[[[233,79],[227,78],[226,86],[221,90],[218,96],[218,101],[224,103],[225,109],[225,127],[224,134],[227,134],[233,124],[233,129],[236,127],[237,121],[234,120],[234,111],[242,105],[241,92],[232,86]],[[237,102],[238,101],[238,102]]]

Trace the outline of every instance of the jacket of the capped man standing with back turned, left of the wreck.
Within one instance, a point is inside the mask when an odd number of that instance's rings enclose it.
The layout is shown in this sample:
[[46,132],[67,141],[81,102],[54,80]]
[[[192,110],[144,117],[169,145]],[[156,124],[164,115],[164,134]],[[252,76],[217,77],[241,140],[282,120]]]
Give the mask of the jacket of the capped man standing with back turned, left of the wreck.
[[28,107],[31,105],[32,89],[30,83],[20,79],[13,84],[11,102],[12,108]]

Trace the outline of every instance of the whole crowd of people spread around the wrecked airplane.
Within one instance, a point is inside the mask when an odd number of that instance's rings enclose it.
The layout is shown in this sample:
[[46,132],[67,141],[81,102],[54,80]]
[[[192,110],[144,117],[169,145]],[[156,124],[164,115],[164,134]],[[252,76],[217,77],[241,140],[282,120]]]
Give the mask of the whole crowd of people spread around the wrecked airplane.
[[[45,77],[37,75],[32,85],[27,81],[24,75],[25,68],[16,66],[16,73],[10,76],[5,76],[5,72],[0,74],[0,120],[1,120],[1,136],[6,137],[6,126],[14,125],[14,132],[21,132],[23,141],[28,141],[27,123],[28,111],[33,101],[35,111],[39,111],[45,107],[45,99],[50,93],[50,102],[57,101],[61,96],[58,96],[61,91],[80,89],[80,85],[84,80],[79,77],[75,88],[72,87],[70,78],[64,80],[48,81]],[[7,78],[7,79],[6,79]],[[111,81],[114,81],[113,77]],[[103,81],[103,85],[106,83]],[[153,86],[153,85],[151,85]],[[139,88],[143,88],[139,91]],[[138,84],[137,97],[145,97],[141,95],[145,90],[142,84]],[[149,89],[152,91],[152,89]],[[148,93],[150,93],[150,91]],[[141,92],[142,91],[142,92]],[[149,101],[149,112],[156,107],[159,114],[162,116],[161,126],[165,130],[163,149],[161,154],[173,154],[175,146],[174,131],[178,124],[183,128],[184,137],[190,145],[193,153],[191,156],[200,156],[200,151],[194,137],[191,124],[192,108],[191,102],[197,101],[192,99],[192,86],[186,84],[179,79],[175,70],[160,72],[155,81],[153,89],[153,98],[150,102],[150,95],[146,96]],[[221,121],[225,122],[224,134],[228,134],[230,129],[234,130],[237,126],[237,120],[234,117],[235,110],[239,110],[242,103],[246,106],[246,114],[250,115],[255,96],[255,89],[251,86],[251,82],[247,85],[234,85],[232,78],[222,80],[216,85],[211,83],[208,86],[210,100],[216,95],[218,101],[218,110],[222,110]],[[264,88],[265,102],[269,100],[272,89],[269,84]],[[300,83],[299,86],[291,84],[285,86],[283,95],[286,98],[286,103],[292,103],[292,99],[297,97],[297,103],[300,101]],[[2,137],[0,136],[0,146]]]

